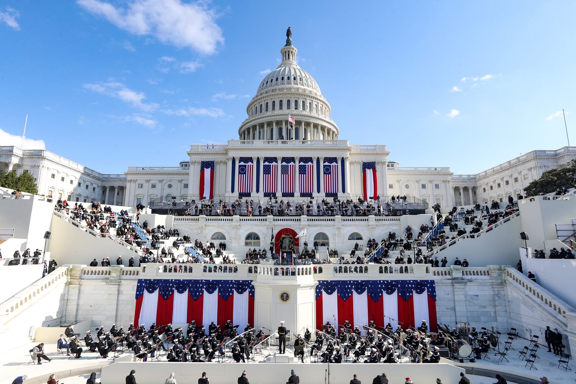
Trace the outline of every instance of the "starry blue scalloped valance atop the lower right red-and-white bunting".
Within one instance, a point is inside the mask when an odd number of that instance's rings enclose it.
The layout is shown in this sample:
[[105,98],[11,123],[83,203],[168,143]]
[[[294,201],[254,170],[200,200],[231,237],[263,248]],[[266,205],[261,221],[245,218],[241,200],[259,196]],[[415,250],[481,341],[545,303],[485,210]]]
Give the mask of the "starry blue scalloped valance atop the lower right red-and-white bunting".
[[338,291],[338,296],[346,300],[356,292],[361,295],[367,291],[374,301],[378,301],[382,294],[392,295],[397,292],[404,300],[408,300],[413,292],[428,294],[436,300],[436,285],[434,280],[319,280],[316,286],[316,299],[324,291],[331,295]]

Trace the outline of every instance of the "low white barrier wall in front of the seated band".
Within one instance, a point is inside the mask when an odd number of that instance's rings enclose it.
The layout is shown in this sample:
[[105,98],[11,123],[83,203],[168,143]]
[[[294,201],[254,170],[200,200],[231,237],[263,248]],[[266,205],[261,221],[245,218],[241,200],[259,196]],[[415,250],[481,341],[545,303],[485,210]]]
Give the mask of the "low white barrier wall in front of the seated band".
[[[179,383],[195,383],[206,372],[210,384],[230,384],[246,371],[251,384],[282,384],[288,381],[290,371],[300,377],[300,382],[323,383],[330,370],[332,384],[347,384],[354,374],[365,383],[386,372],[390,384],[403,384],[410,377],[415,383],[434,383],[436,378],[444,384],[457,384],[463,368],[452,364],[266,364],[266,363],[114,363],[102,367],[101,381],[106,384],[124,384],[133,369],[138,384],[163,383],[174,372]],[[328,382],[328,378],[327,378]]]

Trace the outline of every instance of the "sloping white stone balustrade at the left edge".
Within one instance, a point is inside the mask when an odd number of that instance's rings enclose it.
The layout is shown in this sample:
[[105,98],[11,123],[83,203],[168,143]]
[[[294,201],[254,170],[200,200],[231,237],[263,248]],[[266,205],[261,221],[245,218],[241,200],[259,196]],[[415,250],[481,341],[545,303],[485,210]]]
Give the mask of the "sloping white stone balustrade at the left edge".
[[56,268],[48,275],[42,277],[36,283],[24,288],[16,295],[7,299],[0,305],[0,321],[1,324],[6,324],[17,316],[21,311],[25,310],[28,306],[33,305],[41,296],[45,295],[48,291],[56,286],[66,282],[67,268]]

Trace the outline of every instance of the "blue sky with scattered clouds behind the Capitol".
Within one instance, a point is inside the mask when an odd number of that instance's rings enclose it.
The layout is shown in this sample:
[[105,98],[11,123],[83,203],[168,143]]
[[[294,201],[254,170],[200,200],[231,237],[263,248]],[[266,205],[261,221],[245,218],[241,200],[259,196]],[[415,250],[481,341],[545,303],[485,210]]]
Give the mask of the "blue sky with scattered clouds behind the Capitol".
[[401,166],[557,149],[562,108],[576,143],[576,2],[278,4],[0,0],[0,145],[28,113],[25,146],[104,173],[176,165],[238,138],[287,26],[339,138]]

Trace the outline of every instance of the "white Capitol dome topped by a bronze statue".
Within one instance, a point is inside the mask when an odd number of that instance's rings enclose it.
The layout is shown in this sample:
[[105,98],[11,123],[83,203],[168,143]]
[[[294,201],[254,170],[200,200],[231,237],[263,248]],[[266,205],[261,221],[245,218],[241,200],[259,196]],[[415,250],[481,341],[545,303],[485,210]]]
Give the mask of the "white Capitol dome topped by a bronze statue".
[[282,62],[262,79],[246,107],[240,140],[337,140],[330,104],[316,80],[298,66],[290,29],[287,37],[280,50]]

